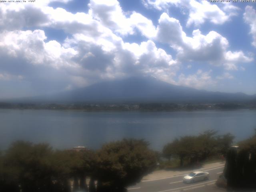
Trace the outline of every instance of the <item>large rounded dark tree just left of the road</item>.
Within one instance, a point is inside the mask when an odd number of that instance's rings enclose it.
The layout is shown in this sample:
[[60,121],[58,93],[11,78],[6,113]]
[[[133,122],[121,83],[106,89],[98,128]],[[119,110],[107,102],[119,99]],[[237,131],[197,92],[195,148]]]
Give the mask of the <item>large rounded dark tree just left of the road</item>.
[[97,180],[104,191],[125,191],[156,166],[156,155],[144,140],[124,139],[102,146],[98,152]]

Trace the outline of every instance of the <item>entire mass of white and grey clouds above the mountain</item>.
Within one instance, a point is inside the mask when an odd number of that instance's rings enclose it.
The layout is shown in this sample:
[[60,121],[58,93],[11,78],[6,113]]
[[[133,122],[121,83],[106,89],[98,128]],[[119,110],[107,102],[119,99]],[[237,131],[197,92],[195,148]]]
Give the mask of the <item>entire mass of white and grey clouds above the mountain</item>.
[[[88,13],[76,14],[64,8],[50,7],[54,0],[36,2],[0,7],[0,81],[26,82],[36,94],[71,90],[132,75],[149,75],[172,84],[202,88],[207,83],[214,85],[220,78],[213,80],[211,71],[198,70],[196,74],[180,74],[175,81],[182,63],[188,68],[192,68],[190,62],[194,62],[242,70],[238,64],[252,61],[240,50],[228,50],[228,40],[217,32],[202,34],[200,30],[194,30],[191,37],[187,36],[180,21],[166,13],[160,16],[155,27],[140,13],[124,12],[117,0],[90,0]],[[211,14],[224,13],[225,18],[237,10],[234,6],[220,9],[207,2],[197,4],[192,0],[183,0],[182,4],[180,1],[165,2],[166,7],[175,4],[184,10],[190,9],[189,14],[195,16],[194,20],[188,20],[189,25],[200,25],[206,20],[215,22]],[[204,6],[212,10],[201,13],[203,9],[207,10]],[[162,4],[159,8],[163,9]],[[45,28],[63,30],[68,36],[63,43],[48,40]],[[124,42],[124,36],[137,32],[148,40]],[[177,51],[176,56],[159,48],[159,43],[171,46]]]

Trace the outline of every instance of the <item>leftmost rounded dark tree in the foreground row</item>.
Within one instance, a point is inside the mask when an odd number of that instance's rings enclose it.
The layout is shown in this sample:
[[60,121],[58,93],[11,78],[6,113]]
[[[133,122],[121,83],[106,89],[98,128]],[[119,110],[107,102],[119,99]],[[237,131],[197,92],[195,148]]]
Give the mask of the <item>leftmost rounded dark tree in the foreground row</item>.
[[14,142],[4,158],[6,179],[23,192],[53,191],[52,152],[48,144]]

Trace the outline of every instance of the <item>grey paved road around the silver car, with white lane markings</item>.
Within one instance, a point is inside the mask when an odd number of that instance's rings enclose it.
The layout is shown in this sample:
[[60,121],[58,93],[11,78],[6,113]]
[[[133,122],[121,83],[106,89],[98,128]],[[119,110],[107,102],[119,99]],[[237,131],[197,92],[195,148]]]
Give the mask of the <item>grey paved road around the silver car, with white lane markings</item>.
[[128,192],[180,192],[180,191],[189,191],[189,192],[215,192],[222,191],[221,189],[215,186],[215,182],[218,179],[219,175],[222,173],[224,166],[217,168],[210,168],[207,171],[210,174],[209,180],[196,182],[192,184],[186,184],[183,182],[183,177],[186,174],[179,176],[172,176],[168,178],[154,179],[154,180],[145,180],[135,186],[130,186]]

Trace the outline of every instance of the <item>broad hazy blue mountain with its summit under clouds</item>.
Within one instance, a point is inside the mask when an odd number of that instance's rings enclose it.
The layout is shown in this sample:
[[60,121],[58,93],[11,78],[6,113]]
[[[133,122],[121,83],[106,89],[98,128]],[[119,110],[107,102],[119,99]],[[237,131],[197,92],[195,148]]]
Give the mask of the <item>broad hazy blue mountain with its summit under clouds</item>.
[[244,102],[256,96],[172,85],[152,77],[131,77],[85,88],[29,98],[44,102]]

